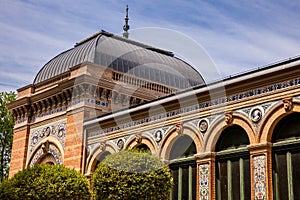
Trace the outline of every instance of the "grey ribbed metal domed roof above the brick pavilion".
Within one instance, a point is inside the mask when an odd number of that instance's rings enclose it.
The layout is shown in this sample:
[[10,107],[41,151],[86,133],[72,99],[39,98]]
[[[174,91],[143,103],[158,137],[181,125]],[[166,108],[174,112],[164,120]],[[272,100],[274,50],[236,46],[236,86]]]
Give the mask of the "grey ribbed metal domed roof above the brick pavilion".
[[169,51],[101,31],[51,59],[34,84],[67,72],[85,61],[176,88],[205,84],[191,65]]

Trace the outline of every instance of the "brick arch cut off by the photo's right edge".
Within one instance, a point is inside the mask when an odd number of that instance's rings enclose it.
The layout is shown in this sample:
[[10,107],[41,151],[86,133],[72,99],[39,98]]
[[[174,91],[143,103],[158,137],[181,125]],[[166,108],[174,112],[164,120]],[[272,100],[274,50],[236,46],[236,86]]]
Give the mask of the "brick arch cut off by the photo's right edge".
[[259,142],[261,143],[271,142],[275,126],[282,118],[284,118],[285,116],[293,112],[300,112],[300,101],[298,99],[293,99],[292,110],[289,112],[286,112],[284,110],[283,102],[279,102],[278,104],[276,104],[266,114],[264,120],[261,123],[258,132]]

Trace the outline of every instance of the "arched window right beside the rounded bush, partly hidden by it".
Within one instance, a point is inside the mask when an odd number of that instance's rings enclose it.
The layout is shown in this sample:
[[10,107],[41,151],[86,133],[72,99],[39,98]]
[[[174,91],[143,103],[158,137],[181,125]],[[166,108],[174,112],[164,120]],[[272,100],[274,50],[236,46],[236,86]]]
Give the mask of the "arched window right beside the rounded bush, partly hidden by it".
[[170,169],[174,180],[172,199],[196,199],[196,145],[188,135],[176,139],[171,151]]

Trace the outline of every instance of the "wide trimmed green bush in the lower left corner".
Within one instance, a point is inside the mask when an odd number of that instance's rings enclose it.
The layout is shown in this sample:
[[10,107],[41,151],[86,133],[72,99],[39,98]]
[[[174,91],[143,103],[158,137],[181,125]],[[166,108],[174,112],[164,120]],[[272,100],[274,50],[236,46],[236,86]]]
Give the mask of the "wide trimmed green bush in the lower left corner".
[[0,199],[90,199],[87,179],[62,165],[41,164],[18,172],[0,185]]

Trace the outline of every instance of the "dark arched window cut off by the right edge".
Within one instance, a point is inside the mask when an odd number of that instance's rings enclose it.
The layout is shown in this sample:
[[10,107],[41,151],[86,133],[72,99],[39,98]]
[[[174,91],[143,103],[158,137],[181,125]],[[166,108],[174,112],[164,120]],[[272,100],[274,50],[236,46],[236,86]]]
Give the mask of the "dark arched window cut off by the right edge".
[[279,121],[272,142],[274,199],[300,199],[300,113]]

